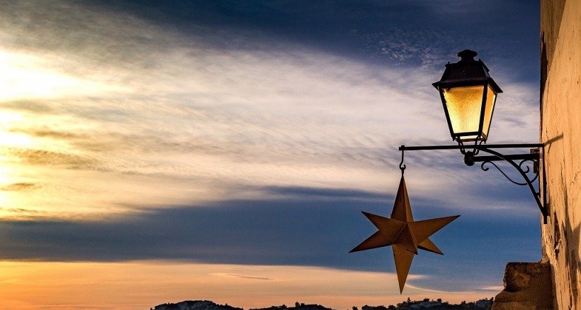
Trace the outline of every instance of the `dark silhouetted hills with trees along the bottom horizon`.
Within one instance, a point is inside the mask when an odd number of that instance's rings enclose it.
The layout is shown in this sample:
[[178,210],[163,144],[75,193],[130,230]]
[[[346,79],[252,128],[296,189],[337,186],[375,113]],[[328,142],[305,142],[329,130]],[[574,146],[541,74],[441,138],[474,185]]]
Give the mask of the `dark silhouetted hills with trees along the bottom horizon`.
[[[390,306],[362,306],[361,310],[489,310],[492,307],[493,299],[480,299],[475,302],[462,301],[461,304],[449,304],[447,301],[437,300],[410,300],[402,301],[397,305]],[[160,304],[151,308],[151,310],[243,310],[242,308],[237,308],[234,306],[228,306],[228,304],[221,305],[215,304],[213,301],[208,300],[196,300],[196,301],[181,301],[176,304]],[[250,310],[333,310],[331,308],[326,308],[320,304],[299,304],[295,303],[295,306],[271,306],[269,308],[256,308]],[[356,306],[352,310],[358,310]]]

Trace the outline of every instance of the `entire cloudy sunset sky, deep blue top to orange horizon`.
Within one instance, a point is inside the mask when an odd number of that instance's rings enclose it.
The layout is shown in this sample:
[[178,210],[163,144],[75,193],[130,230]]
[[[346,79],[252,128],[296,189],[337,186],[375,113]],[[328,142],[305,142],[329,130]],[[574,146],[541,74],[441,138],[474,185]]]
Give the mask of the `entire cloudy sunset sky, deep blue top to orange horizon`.
[[400,295],[390,248],[348,253],[397,148],[453,145],[431,83],[459,51],[504,91],[488,142],[538,141],[538,1],[0,4],[3,309],[474,301],[541,259],[529,190],[455,150],[405,154],[414,218],[461,215],[444,256]]

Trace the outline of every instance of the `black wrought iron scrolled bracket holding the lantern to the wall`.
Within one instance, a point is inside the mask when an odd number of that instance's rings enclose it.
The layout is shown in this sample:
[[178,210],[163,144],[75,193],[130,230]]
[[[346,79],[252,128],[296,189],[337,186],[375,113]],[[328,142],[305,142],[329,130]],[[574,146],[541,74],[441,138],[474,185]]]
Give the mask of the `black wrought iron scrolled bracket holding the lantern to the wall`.
[[[468,150],[466,149],[473,149]],[[517,148],[529,148],[530,153],[525,154],[502,154],[495,149],[517,149]],[[476,145],[429,145],[429,146],[400,146],[399,150],[402,151],[402,162],[403,162],[403,152],[406,150],[460,150],[461,153],[464,155],[464,163],[467,166],[473,166],[475,162],[482,162],[480,164],[480,168],[483,171],[488,171],[489,168],[485,167],[486,164],[493,165],[497,168],[498,171],[504,175],[510,182],[521,185],[527,186],[531,190],[531,194],[538,205],[538,209],[541,210],[541,214],[543,214],[543,223],[547,223],[547,216],[548,216],[548,205],[546,201],[546,194],[543,195],[543,201],[541,202],[541,193],[537,191],[534,187],[533,182],[538,179],[539,175],[539,167],[541,156],[540,152],[544,149],[543,143],[523,143],[523,144],[476,144]],[[478,153],[483,151],[485,153],[491,154],[489,156],[478,156]],[[504,171],[500,169],[494,162],[504,160],[508,162],[514,169],[516,169],[521,177],[524,179],[524,182],[515,182],[511,179]],[[518,162],[518,163],[517,163]],[[524,166],[524,163],[531,162],[533,165],[533,171],[531,172],[528,166]],[[401,167],[402,164],[400,164]],[[533,173],[534,177],[530,178],[529,173]],[[542,180],[539,180],[539,186],[543,186],[543,190],[546,193],[546,179],[545,174],[542,174]]]

